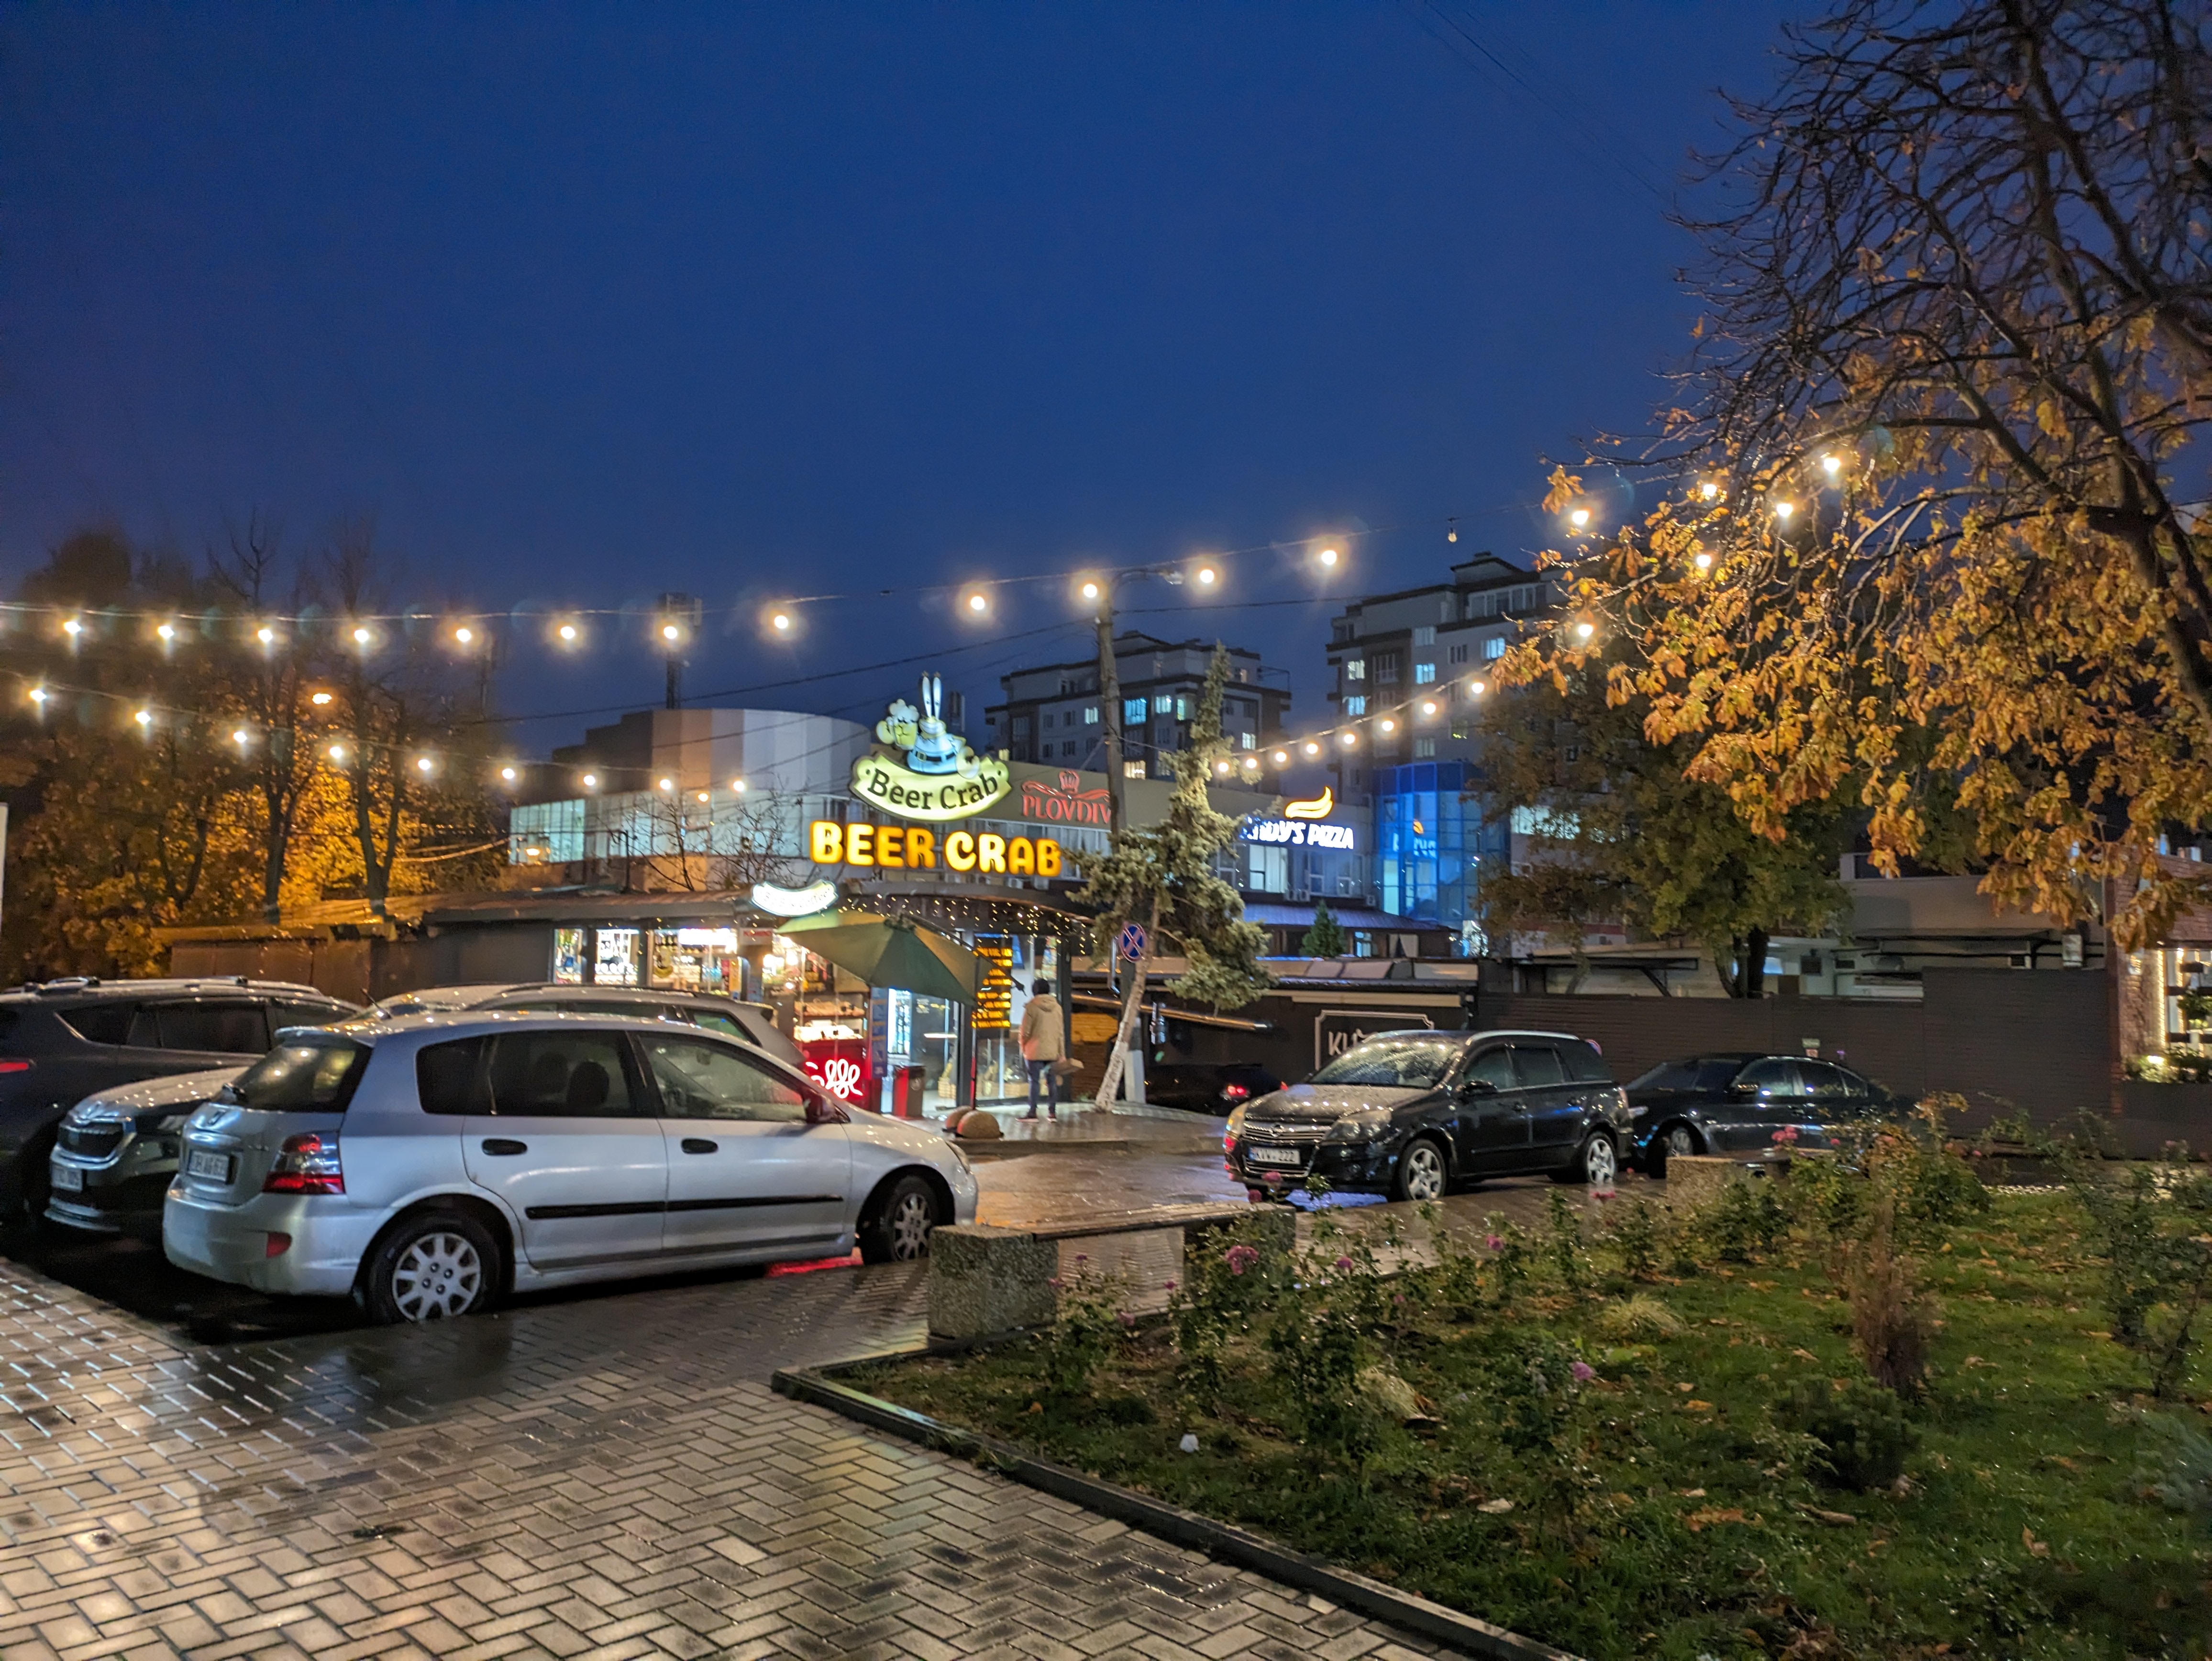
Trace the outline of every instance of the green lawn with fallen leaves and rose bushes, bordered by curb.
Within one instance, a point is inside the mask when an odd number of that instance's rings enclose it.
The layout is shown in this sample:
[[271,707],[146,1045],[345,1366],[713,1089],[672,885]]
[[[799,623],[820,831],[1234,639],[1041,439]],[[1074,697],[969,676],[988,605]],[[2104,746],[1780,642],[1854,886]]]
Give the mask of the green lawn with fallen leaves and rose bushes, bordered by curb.
[[[852,1382],[1593,1661],[2203,1661],[2212,1535],[2146,1466],[2177,1420],[2205,1424],[2203,1380],[2137,1393],[2079,1221],[2066,1197],[2000,1194],[1918,1261],[1931,1373],[1905,1404],[1902,1480],[1871,1491],[1836,1486],[1803,1431],[1871,1389],[1807,1234],[1652,1283],[1599,1261],[1579,1292],[1544,1265],[1500,1294],[1464,1263],[1383,1281],[1310,1256],[1312,1285],[1230,1323],[1203,1389],[1159,1325],[1077,1389],[1026,1343]],[[1358,1312],[1343,1376],[1360,1382],[1334,1418],[1310,1400],[1321,1362],[1287,1365],[1274,1336],[1321,1305]],[[1376,1369],[1411,1387],[1411,1415]],[[1869,1438],[1893,1449],[1882,1402]]]

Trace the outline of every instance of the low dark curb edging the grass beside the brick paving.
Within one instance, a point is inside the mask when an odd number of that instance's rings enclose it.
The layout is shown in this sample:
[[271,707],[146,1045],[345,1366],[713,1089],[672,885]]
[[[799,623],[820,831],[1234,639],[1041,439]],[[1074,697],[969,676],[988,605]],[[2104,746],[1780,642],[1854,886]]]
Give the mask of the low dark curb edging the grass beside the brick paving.
[[[929,1351],[909,1354],[918,1356]],[[898,1360],[898,1356],[867,1358],[867,1362],[880,1360]],[[1194,1511],[1161,1504],[1159,1500],[1141,1495],[1135,1488],[1124,1488],[1115,1482],[1084,1475],[1071,1466],[1040,1460],[1011,1442],[1000,1442],[993,1435],[980,1435],[975,1431],[962,1431],[953,1424],[945,1424],[942,1420],[933,1420],[927,1413],[916,1413],[909,1407],[887,1402],[880,1396],[869,1396],[852,1389],[849,1385],[838,1385],[836,1378],[832,1378],[832,1373],[841,1373],[856,1365],[860,1362],[783,1369],[770,1378],[770,1387],[779,1396],[790,1396],[794,1402],[827,1407],[832,1413],[843,1413],[845,1418],[867,1424],[874,1431],[883,1431],[907,1442],[920,1442],[922,1446],[938,1449],[940,1453],[951,1453],[962,1460],[973,1460],[987,1471],[1013,1477],[1031,1488],[1042,1488],[1060,1500],[1071,1500],[1084,1511],[1113,1517],[1130,1528],[1166,1539],[1172,1546],[1186,1546],[1190,1550],[1206,1553],[1208,1557],[1237,1564],[1239,1568],[1250,1568],[1267,1579],[1281,1581],[1283,1586],[1318,1592],[1340,1608],[1369,1615],[1405,1632],[1433,1639],[1436,1643],[1449,1643],[1462,1654],[1486,1657],[1493,1661],[1577,1661],[1566,1650],[1553,1650],[1535,1639],[1524,1639],[1520,1632],[1509,1632],[1502,1626],[1478,1621],[1473,1615],[1460,1615],[1442,1603],[1431,1603],[1425,1597],[1400,1592],[1383,1581],[1367,1579],[1365,1575],[1354,1575],[1347,1568],[1334,1568],[1318,1557],[1307,1557],[1305,1553],[1276,1546],[1261,1535],[1232,1528],[1230,1524],[1214,1522],[1212,1517],[1201,1517]]]

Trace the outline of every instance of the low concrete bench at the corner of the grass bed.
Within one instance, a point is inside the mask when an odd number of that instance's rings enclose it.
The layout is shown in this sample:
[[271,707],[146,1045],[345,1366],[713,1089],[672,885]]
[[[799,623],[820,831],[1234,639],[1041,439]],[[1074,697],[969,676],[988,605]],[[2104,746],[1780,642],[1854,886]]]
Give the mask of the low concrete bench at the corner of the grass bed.
[[1124,1307],[1161,1309],[1190,1243],[1234,1223],[1256,1223],[1265,1245],[1285,1254],[1298,1239],[1287,1205],[1155,1205],[1040,1228],[940,1228],[929,1236],[929,1338],[967,1343],[1048,1327],[1060,1312],[1053,1281],[1119,1281]]

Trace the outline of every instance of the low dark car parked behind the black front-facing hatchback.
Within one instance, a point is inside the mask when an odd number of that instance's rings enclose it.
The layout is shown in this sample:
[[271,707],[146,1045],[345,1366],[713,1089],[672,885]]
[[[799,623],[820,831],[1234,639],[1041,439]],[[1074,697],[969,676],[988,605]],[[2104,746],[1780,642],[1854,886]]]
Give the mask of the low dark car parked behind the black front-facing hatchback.
[[1761,1155],[1792,1126],[1801,1148],[1827,1148],[1829,1126],[1911,1110],[1880,1084],[1809,1055],[1692,1055],[1630,1082],[1635,1159],[1652,1177],[1668,1155]]

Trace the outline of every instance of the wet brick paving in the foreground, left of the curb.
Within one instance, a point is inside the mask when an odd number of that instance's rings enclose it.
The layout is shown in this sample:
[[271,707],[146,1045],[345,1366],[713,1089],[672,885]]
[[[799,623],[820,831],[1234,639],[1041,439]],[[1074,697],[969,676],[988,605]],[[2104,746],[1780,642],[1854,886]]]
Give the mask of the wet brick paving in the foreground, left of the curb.
[[0,1657],[1429,1654],[765,1387],[916,1270],[192,1347],[0,1265]]

